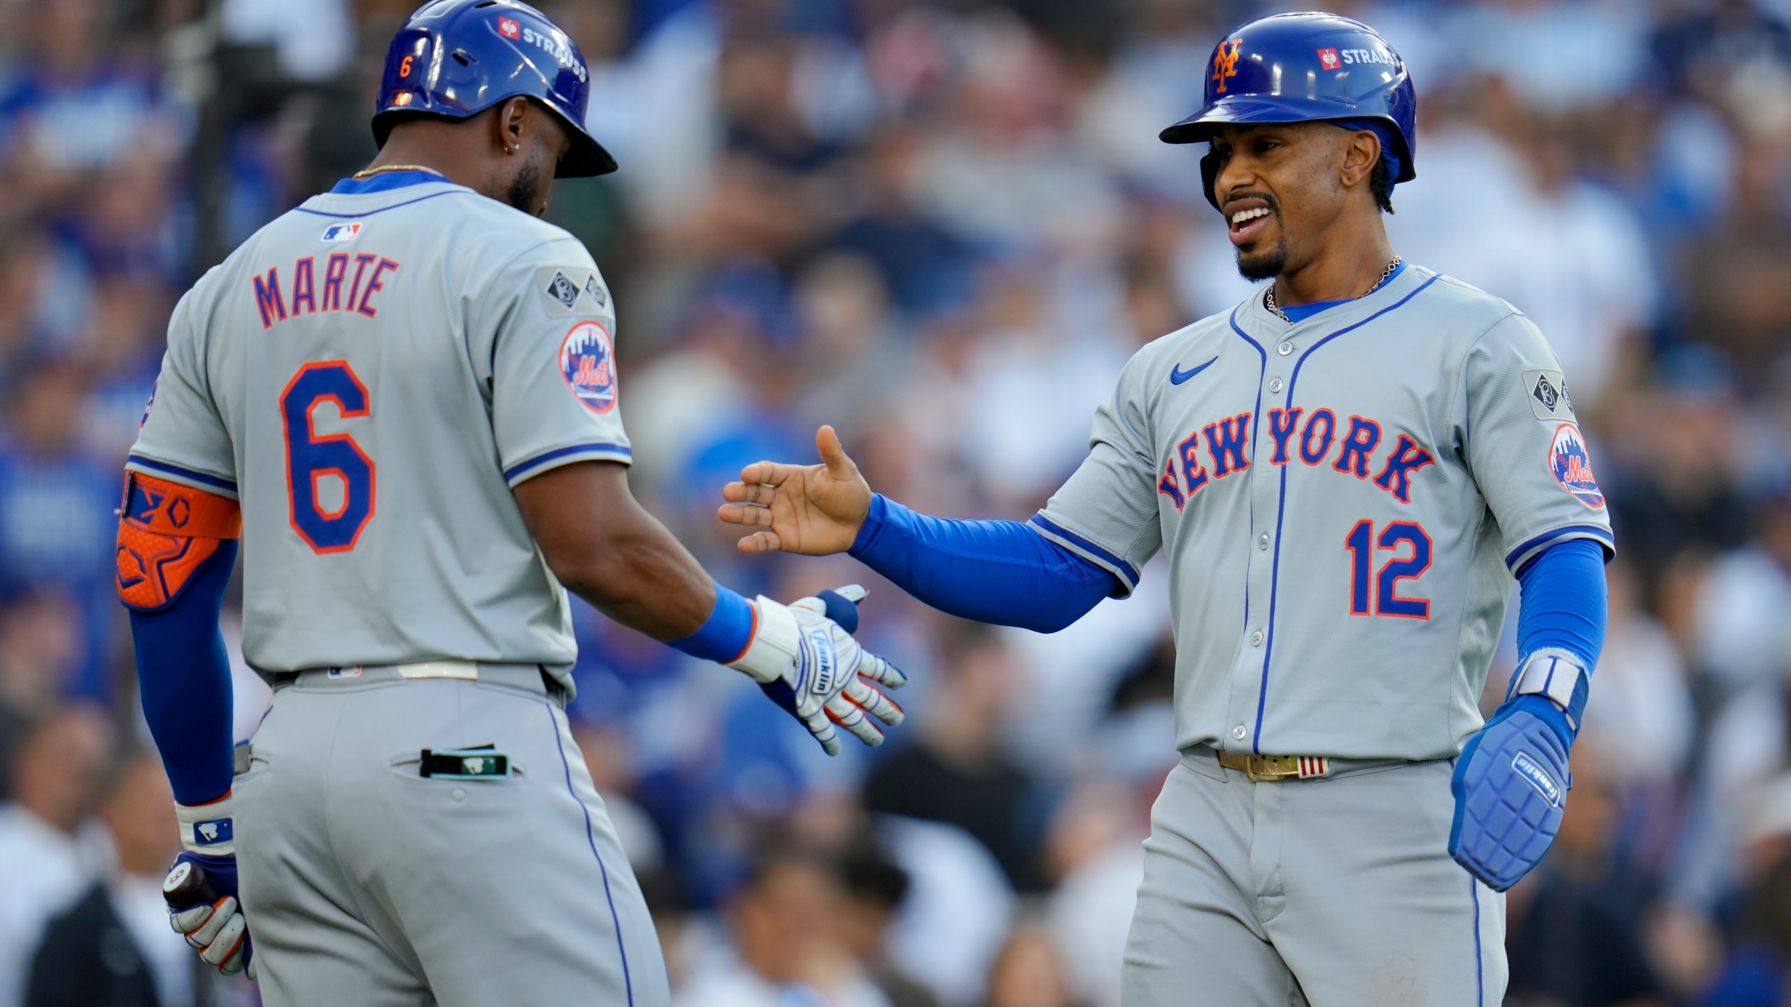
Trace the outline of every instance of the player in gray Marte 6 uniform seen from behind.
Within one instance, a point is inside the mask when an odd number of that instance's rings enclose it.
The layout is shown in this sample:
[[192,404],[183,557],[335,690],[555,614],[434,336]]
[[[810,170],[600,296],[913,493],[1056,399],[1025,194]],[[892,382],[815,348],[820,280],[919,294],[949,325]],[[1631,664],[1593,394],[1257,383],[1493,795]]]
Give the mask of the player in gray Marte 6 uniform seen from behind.
[[[380,158],[181,301],[131,452],[118,590],[177,799],[174,926],[288,1005],[668,1002],[568,733],[566,590],[743,670],[835,753],[901,711],[861,591],[716,586],[629,495],[614,303],[539,215],[614,170],[589,72],[514,0],[392,41]],[[231,747],[217,616],[274,684]],[[829,618],[835,616],[835,618]],[[863,676],[863,677],[860,677]]]

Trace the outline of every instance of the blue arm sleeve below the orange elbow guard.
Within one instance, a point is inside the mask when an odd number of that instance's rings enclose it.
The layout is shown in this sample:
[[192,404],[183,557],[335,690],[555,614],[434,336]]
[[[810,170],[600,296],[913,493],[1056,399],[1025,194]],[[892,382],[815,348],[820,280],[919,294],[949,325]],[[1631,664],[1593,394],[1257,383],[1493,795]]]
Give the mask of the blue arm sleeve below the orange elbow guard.
[[220,541],[167,607],[133,611],[136,681],[174,799],[204,805],[231,787],[231,681],[219,611],[236,564],[236,541]]

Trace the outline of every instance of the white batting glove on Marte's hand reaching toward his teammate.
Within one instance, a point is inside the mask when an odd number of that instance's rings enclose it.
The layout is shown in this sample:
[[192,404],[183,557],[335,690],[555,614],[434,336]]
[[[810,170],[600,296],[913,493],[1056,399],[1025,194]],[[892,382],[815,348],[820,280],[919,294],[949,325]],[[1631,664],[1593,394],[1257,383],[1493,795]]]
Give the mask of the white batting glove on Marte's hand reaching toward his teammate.
[[[856,629],[858,602],[867,591],[847,584],[822,595],[833,595],[833,613]],[[901,688],[908,677],[860,647],[840,622],[827,618],[829,598],[808,597],[784,606],[759,595],[752,607],[752,643],[729,667],[759,683],[765,695],[801,720],[827,754],[840,754],[835,726],[867,745],[881,745],[879,722],[890,727],[903,722],[901,706],[865,679]]]

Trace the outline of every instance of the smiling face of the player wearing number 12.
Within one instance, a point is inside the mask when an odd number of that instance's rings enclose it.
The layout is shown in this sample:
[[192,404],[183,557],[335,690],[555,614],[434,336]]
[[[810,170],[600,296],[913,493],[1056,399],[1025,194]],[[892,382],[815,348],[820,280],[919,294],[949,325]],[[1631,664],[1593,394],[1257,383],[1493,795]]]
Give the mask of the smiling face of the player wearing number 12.
[[1223,125],[1213,152],[1220,158],[1213,195],[1238,249],[1238,272],[1248,280],[1309,265],[1352,204],[1379,213],[1368,174],[1381,142],[1370,131],[1329,122]]

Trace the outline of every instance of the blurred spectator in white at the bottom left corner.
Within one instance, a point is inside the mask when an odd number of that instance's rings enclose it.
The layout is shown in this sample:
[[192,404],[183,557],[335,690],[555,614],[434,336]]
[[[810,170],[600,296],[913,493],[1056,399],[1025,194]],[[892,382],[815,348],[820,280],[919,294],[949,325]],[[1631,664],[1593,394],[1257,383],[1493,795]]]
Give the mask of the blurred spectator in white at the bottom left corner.
[[0,1007],[25,1003],[43,928],[106,862],[104,830],[88,813],[113,735],[99,710],[66,706],[27,727],[9,753],[13,801],[0,806],[0,864],[11,878],[0,899]]

